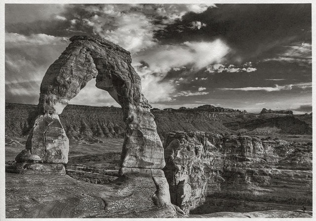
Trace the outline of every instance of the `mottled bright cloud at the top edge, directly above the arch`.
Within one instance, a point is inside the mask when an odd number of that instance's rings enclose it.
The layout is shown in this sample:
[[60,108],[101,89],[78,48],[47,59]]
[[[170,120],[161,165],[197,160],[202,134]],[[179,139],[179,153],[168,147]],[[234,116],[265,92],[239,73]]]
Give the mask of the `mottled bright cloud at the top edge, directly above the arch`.
[[[214,4],[103,4],[71,5],[69,12],[82,11],[71,18],[69,32],[80,26],[92,28],[93,34],[119,44],[131,53],[137,53],[158,43],[155,33],[165,24],[171,24],[187,12],[201,13]],[[83,13],[84,12],[84,13]],[[67,15],[67,16],[66,16]],[[59,16],[58,18],[62,18]],[[66,18],[65,18],[66,20]],[[203,24],[199,22],[199,29]]]

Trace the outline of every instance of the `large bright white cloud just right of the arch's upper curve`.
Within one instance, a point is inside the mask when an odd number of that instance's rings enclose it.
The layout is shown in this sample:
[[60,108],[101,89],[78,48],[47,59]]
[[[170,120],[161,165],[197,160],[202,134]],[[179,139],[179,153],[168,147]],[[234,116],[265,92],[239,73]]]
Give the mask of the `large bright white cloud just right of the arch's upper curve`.
[[[184,66],[190,64],[193,70],[197,71],[211,63],[223,61],[229,51],[230,48],[220,39],[212,42],[184,42],[180,45],[161,45],[144,54],[140,53],[134,57],[133,63],[135,62],[137,73],[142,76],[142,92],[145,97],[151,102],[171,101],[176,86],[180,85],[184,78],[162,81],[170,70],[185,70]],[[144,62],[146,66],[139,66]],[[155,91],[153,88],[156,88]],[[192,95],[196,94],[183,96]]]

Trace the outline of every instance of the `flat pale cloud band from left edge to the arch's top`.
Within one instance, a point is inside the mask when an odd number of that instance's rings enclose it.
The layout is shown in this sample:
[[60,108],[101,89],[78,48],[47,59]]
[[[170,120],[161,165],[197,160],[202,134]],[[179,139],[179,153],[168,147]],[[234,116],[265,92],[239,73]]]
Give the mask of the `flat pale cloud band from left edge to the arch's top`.
[[17,33],[5,33],[5,47],[14,48],[18,46],[30,46],[30,45],[57,45],[70,43],[67,37],[55,37],[45,34],[33,34],[30,36],[24,36]]

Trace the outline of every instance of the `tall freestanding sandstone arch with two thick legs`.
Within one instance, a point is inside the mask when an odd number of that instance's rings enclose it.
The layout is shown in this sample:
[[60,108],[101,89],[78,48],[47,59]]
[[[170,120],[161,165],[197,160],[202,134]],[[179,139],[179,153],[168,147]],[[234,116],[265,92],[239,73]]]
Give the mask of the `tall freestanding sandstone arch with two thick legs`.
[[[100,37],[75,36],[47,70],[40,86],[39,116],[27,149],[47,163],[67,163],[69,141],[58,114],[92,78],[121,105],[126,123],[121,170],[162,169],[163,147],[151,106],[141,93],[141,79],[131,66],[130,53]],[[125,168],[125,169],[124,169]],[[159,172],[157,172],[159,174]],[[163,174],[163,173],[162,173]]]

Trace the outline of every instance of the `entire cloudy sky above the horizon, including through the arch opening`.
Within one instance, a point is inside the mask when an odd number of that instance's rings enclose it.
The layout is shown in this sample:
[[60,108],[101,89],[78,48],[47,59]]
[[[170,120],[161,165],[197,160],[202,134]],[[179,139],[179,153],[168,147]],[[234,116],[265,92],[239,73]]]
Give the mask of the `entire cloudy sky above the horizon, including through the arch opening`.
[[[75,35],[130,51],[153,108],[312,111],[311,4],[5,4],[5,102],[38,104]],[[70,104],[118,107],[95,79]]]

